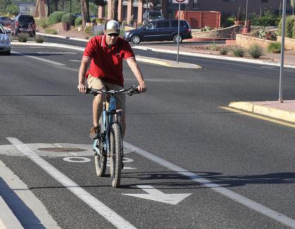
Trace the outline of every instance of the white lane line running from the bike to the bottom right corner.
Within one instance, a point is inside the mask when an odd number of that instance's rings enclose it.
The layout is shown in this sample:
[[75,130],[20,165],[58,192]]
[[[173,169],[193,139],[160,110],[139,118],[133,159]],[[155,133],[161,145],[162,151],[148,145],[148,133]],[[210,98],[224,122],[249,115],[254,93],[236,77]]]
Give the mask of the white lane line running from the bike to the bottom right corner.
[[153,162],[160,164],[161,166],[169,168],[171,171],[175,171],[181,175],[185,175],[189,179],[191,179],[201,185],[204,185],[205,187],[210,187],[211,190],[214,190],[215,192],[218,192],[218,193],[224,195],[225,197],[228,197],[228,198],[234,200],[235,202],[243,204],[244,206],[248,207],[249,209],[253,209],[255,211],[258,211],[259,213],[262,213],[263,215],[268,216],[269,218],[272,218],[275,221],[278,221],[278,222],[280,222],[284,225],[287,225],[291,228],[295,228],[295,220],[293,218],[289,218],[287,216],[284,216],[282,213],[274,211],[274,210],[268,208],[267,206],[263,206],[262,204],[258,204],[257,202],[254,202],[251,199],[243,197],[240,194],[232,192],[231,190],[227,190],[225,187],[215,184],[215,183],[211,182],[210,180],[201,178],[201,176],[196,175],[195,173],[189,172],[186,169],[181,168],[180,166],[176,166],[175,164],[170,163],[169,161],[166,161],[164,159],[161,159],[160,157],[155,156],[155,155],[149,153],[148,151],[145,151],[143,149],[135,147],[134,145],[132,145],[128,142],[124,142],[124,146],[129,149],[135,150],[135,152],[137,154],[144,156],[146,159],[149,159]]

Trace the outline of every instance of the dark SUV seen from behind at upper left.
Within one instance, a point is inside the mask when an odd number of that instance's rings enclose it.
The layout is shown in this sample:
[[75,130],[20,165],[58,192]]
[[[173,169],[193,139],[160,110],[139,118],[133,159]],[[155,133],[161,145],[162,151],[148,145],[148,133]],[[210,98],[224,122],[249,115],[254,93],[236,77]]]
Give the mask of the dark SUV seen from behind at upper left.
[[18,35],[20,32],[25,32],[30,36],[36,34],[36,24],[34,22],[33,16],[19,14],[13,20],[13,26],[11,32],[14,35]]

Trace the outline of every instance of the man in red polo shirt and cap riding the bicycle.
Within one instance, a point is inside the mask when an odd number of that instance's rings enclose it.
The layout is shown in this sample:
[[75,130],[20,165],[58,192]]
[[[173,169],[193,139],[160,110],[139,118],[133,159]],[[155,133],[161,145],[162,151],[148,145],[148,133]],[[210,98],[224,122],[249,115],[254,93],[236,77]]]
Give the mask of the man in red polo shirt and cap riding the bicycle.
[[[132,48],[125,39],[118,37],[119,35],[119,23],[115,20],[108,20],[105,25],[104,35],[93,37],[89,40],[84,50],[79,70],[79,92],[87,92],[85,76],[88,87],[94,89],[123,89],[123,58],[127,61],[135,78],[137,78],[137,89],[139,92],[146,91],[146,83],[137,65]],[[87,70],[88,68],[89,70]],[[92,139],[99,137],[99,117],[101,116],[102,106],[103,95],[98,94],[94,97],[92,104],[93,125],[89,136]],[[116,106],[117,109],[125,111],[124,94],[118,94]],[[124,135],[124,112],[122,116],[122,129]]]

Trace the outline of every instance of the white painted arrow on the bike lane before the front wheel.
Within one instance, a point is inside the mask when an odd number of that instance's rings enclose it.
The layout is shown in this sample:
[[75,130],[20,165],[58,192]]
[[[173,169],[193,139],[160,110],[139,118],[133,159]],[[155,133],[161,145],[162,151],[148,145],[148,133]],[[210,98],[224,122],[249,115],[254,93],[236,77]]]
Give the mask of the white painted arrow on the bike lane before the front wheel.
[[163,202],[166,204],[173,204],[176,205],[181,202],[183,199],[189,197],[192,193],[177,193],[177,194],[165,194],[157,190],[155,187],[151,185],[137,185],[137,187],[141,188],[145,192],[149,194],[125,194],[126,196],[130,197],[138,197],[142,199],[150,199],[156,202]]

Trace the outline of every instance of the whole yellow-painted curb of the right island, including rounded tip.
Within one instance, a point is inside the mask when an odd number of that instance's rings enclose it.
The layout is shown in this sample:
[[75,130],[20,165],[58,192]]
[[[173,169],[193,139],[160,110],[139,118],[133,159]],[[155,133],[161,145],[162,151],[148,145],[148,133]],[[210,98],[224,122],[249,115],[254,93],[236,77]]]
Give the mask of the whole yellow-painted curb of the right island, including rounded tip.
[[284,111],[282,109],[273,108],[270,106],[256,105],[251,101],[232,101],[229,107],[248,111],[251,113],[268,116],[271,118],[277,118],[280,120],[286,120],[288,122],[295,123],[295,113],[290,111]]

